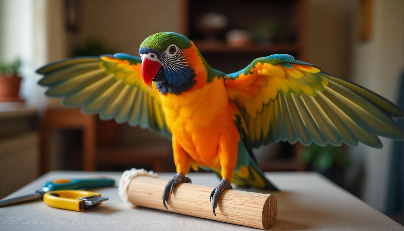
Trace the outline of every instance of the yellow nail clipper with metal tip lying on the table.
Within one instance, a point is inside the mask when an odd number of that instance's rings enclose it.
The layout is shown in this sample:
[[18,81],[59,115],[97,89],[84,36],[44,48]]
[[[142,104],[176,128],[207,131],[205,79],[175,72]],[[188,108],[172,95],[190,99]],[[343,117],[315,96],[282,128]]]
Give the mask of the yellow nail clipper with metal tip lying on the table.
[[59,190],[44,194],[44,202],[51,207],[73,211],[84,211],[108,200],[101,194],[83,190]]

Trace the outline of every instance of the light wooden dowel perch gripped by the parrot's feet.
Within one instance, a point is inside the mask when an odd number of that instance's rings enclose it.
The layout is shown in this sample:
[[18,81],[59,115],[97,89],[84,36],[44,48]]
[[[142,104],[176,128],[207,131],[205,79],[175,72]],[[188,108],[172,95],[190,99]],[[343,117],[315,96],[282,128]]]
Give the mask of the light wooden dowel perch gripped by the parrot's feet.
[[164,208],[162,192],[167,180],[137,176],[128,186],[128,200],[136,206],[189,216],[219,220],[258,229],[269,229],[276,220],[278,205],[274,195],[226,190],[213,215],[209,195],[212,187],[183,183],[177,186]]

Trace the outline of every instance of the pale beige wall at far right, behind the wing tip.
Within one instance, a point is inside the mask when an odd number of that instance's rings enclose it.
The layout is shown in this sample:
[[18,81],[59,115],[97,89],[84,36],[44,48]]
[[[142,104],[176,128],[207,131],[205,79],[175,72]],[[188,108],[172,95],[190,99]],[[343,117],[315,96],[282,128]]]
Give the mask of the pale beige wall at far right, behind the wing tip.
[[[372,13],[371,40],[354,43],[353,80],[397,102],[399,77],[404,71],[404,1],[375,0]],[[362,145],[352,153],[357,163],[364,164],[362,199],[384,211],[392,140],[381,140],[381,150]]]

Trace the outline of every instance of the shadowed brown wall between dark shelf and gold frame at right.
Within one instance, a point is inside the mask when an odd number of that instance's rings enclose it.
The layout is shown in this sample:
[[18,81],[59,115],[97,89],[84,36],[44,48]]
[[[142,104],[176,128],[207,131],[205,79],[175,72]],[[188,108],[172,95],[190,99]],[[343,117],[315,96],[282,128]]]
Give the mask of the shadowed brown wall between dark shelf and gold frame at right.
[[343,78],[350,77],[352,59],[351,0],[309,0],[307,62]]

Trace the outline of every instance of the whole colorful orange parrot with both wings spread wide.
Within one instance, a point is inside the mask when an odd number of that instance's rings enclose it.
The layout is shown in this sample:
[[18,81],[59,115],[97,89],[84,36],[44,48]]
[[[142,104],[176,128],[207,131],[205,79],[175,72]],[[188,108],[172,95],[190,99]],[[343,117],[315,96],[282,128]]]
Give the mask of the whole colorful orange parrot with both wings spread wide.
[[[288,141],[382,148],[378,136],[403,139],[392,119],[403,117],[383,97],[320,68],[276,54],[225,74],[211,68],[188,38],[173,32],[147,37],[140,57],[124,53],[75,57],[48,64],[39,84],[62,104],[100,119],[139,125],[172,140],[177,174],[162,193],[183,182],[192,167],[221,182],[209,195],[213,214],[230,182],[277,190],[259,169],[252,148]],[[225,60],[223,60],[225,61]],[[168,208],[167,208],[168,209]]]

